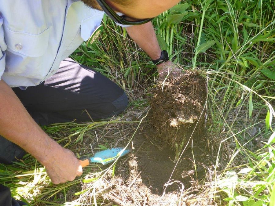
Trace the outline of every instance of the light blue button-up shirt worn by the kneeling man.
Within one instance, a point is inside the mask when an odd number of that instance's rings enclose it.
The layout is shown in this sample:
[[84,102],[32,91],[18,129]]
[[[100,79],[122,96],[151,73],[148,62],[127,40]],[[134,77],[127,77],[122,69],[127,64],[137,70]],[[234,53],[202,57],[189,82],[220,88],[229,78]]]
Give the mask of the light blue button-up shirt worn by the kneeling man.
[[0,0],[0,78],[11,87],[39,85],[103,15],[78,0]]

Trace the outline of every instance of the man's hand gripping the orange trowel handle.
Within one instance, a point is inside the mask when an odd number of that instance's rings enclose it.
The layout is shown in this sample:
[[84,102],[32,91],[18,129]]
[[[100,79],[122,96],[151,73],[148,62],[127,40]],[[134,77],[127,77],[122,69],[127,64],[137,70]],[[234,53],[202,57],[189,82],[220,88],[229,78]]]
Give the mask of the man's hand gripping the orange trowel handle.
[[79,160],[71,150],[60,147],[51,159],[44,163],[46,172],[53,184],[73,181],[76,176],[82,175],[82,167]]

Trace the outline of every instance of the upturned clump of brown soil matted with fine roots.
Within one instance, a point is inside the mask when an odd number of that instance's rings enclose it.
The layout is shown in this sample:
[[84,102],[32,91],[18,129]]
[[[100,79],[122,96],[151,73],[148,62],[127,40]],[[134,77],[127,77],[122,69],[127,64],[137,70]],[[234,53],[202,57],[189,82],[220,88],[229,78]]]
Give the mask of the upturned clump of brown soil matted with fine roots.
[[[150,100],[150,124],[156,138],[172,145],[176,152],[189,139],[202,132],[206,101],[206,81],[196,70],[185,70],[178,77],[160,80]],[[201,118],[200,118],[201,116]],[[199,121],[199,122],[198,122]]]

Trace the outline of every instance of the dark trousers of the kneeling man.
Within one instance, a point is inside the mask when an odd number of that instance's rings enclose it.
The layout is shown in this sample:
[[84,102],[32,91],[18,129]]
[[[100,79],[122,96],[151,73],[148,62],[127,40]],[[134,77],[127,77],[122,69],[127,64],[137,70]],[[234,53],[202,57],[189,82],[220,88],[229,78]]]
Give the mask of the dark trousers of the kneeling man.
[[[90,117],[104,119],[121,113],[128,105],[123,89],[70,58],[62,61],[58,72],[40,85],[13,91],[40,125],[75,119],[91,121]],[[24,154],[19,146],[0,136],[0,163],[9,164]]]

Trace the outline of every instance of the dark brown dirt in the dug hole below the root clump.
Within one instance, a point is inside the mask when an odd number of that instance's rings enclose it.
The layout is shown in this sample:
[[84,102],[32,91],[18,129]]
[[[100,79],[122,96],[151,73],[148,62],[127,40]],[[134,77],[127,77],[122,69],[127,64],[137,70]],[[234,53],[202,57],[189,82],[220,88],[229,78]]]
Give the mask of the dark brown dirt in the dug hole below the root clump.
[[[142,171],[140,175],[142,183],[150,188],[153,194],[161,195],[164,190],[163,185],[170,179],[175,166],[172,161],[175,157],[173,149],[170,145],[163,146],[163,142],[154,142],[149,138],[149,134],[139,135],[133,141],[136,149],[139,149],[135,157],[137,157],[138,170]],[[137,148],[139,145],[141,147]],[[196,186],[206,176],[203,165],[211,165],[209,158],[205,156],[206,149],[205,144],[193,147],[197,174],[193,163],[192,148],[189,147],[171,179],[182,182],[185,189]],[[180,183],[173,184],[167,187],[166,192],[179,191],[180,188],[182,188]]]

